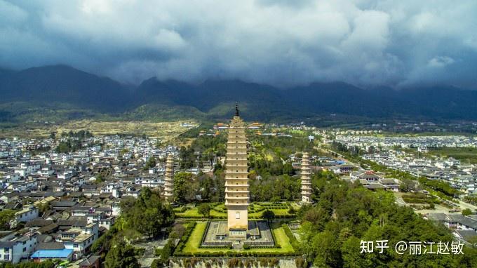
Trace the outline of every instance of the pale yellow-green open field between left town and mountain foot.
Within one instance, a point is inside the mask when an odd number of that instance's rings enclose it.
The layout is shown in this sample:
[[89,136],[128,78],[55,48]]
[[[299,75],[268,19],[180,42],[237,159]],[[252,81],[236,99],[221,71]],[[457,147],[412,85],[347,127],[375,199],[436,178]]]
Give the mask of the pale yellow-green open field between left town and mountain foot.
[[[191,123],[192,126],[182,126],[182,123]],[[50,133],[55,132],[60,135],[70,130],[89,130],[93,135],[147,135],[151,138],[161,140],[171,140],[177,135],[184,133],[193,126],[197,126],[192,121],[170,121],[170,122],[152,122],[152,121],[69,121],[67,123],[32,123],[18,126],[15,128],[2,129],[0,138],[48,138]]]

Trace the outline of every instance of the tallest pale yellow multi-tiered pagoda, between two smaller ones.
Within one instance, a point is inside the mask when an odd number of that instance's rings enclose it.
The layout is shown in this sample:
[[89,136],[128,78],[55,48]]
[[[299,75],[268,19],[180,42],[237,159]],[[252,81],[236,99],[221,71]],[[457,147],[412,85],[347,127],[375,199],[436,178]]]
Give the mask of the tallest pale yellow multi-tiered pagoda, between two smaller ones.
[[246,126],[235,106],[227,138],[225,173],[225,206],[229,236],[246,239],[248,231],[248,163]]

